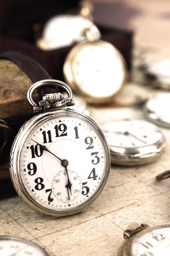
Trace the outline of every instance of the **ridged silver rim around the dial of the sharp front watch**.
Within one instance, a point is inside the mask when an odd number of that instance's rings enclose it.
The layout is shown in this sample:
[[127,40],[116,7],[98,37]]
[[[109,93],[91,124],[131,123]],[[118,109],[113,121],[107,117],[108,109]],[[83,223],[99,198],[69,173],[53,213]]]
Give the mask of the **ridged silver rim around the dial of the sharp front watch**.
[[[99,132],[99,135],[101,138],[104,140],[104,146],[105,146],[105,152],[106,152],[106,157],[108,155],[108,159],[106,160],[106,170],[101,182],[100,187],[97,189],[97,191],[94,193],[93,196],[91,196],[86,202],[82,203],[79,206],[76,206],[71,209],[62,209],[62,210],[54,210],[51,209],[51,207],[45,207],[38,200],[33,198],[31,196],[31,193],[29,193],[28,190],[24,187],[24,184],[22,182],[22,178],[20,175],[20,154],[22,150],[22,146],[24,144],[24,141],[26,137],[28,136],[29,132],[33,130],[36,126],[42,123],[43,121],[50,120],[53,117],[56,116],[61,116],[61,115],[72,115],[79,117],[80,119],[86,120],[89,122],[96,130]],[[48,215],[50,217],[59,217],[59,216],[64,216],[64,215],[71,215],[73,213],[78,213],[81,211],[86,210],[86,208],[98,197],[102,189],[104,188],[104,185],[106,184],[106,180],[108,178],[108,174],[110,171],[110,151],[109,147],[107,144],[107,141],[104,137],[103,132],[99,128],[99,126],[91,119],[91,117],[87,117],[86,115],[83,115],[76,110],[71,110],[71,109],[66,109],[66,110],[57,110],[53,112],[45,112],[43,114],[38,114],[29,121],[27,121],[20,131],[18,132],[18,135],[15,138],[15,141],[13,143],[12,149],[11,149],[11,156],[10,156],[10,174],[11,174],[11,179],[13,182],[13,185],[15,187],[15,190],[17,191],[18,195],[20,198],[22,198],[32,209],[35,211],[38,211],[40,213],[43,213],[45,215]]]

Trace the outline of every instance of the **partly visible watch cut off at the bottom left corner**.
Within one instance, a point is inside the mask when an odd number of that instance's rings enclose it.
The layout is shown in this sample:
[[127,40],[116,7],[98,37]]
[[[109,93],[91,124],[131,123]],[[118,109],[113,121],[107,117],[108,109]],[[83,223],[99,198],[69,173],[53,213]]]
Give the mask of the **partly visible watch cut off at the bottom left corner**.
[[49,256],[39,245],[14,236],[0,236],[0,255],[2,256]]

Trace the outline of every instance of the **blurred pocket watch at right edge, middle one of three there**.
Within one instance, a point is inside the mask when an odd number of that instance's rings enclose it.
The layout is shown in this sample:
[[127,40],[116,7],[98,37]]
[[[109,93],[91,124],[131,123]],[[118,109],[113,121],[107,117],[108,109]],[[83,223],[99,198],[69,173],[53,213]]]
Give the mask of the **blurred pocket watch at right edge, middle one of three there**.
[[144,106],[146,117],[159,125],[170,127],[170,93],[156,94]]

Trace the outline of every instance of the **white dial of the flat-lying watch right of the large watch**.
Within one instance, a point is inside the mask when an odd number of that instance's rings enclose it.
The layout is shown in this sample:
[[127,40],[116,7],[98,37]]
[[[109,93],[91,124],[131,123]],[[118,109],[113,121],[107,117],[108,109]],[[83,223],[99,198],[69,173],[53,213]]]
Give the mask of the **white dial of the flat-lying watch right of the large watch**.
[[137,119],[113,121],[102,125],[101,128],[109,146],[144,147],[156,143],[163,137],[157,126]]

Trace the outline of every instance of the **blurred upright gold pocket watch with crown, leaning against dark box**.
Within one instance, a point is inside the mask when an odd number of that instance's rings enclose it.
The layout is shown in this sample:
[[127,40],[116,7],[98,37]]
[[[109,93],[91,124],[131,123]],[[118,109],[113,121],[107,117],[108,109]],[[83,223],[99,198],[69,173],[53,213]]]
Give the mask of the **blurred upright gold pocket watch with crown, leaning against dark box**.
[[110,103],[126,82],[126,63],[112,44],[96,40],[90,27],[83,34],[86,40],[75,45],[66,57],[64,79],[88,103]]

